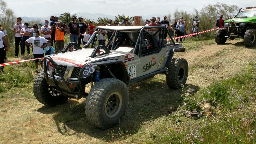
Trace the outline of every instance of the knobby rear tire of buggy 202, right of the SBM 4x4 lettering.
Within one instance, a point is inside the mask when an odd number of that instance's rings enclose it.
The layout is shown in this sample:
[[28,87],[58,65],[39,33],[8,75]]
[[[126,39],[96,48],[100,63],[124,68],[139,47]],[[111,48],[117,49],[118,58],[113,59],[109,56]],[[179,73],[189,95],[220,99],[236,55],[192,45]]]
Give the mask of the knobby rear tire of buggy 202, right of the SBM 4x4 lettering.
[[171,89],[179,89],[188,78],[188,62],[183,58],[174,58],[167,66],[166,82]]

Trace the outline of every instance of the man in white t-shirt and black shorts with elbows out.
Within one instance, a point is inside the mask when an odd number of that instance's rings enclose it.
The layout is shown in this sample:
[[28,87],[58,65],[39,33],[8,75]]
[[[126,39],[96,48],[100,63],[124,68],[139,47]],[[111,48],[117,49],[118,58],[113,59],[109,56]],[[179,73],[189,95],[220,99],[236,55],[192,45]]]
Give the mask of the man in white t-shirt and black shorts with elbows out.
[[[47,42],[47,39],[39,36],[38,30],[34,31],[33,37],[31,37],[25,41],[26,45],[28,45],[28,46],[31,46],[31,44],[32,44],[34,58],[44,57],[44,47],[46,47],[46,42]],[[39,60],[35,60],[35,65],[36,65],[36,73],[35,74],[38,73],[38,61]],[[42,61],[41,61],[41,68],[43,69]]]

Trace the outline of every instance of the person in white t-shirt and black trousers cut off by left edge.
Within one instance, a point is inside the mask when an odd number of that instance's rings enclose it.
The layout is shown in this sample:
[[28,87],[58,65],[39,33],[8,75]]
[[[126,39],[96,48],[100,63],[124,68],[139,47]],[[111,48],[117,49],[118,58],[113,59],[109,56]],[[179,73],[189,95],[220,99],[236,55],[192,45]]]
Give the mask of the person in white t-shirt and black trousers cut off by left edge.
[[[5,44],[5,47],[4,47]],[[0,64],[4,63],[5,51],[8,50],[8,43],[5,39],[4,32],[0,31]],[[4,67],[0,67],[1,71],[3,71]]]

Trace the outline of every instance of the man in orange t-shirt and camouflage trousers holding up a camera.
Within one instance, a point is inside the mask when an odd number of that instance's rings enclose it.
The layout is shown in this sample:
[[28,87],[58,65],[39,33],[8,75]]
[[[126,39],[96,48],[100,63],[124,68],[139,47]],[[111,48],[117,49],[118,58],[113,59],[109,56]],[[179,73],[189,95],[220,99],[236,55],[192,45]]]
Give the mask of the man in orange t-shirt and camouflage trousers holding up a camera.
[[55,52],[59,53],[64,48],[64,31],[65,29],[62,27],[60,22],[54,23],[55,28],[51,27],[51,30],[55,29]]

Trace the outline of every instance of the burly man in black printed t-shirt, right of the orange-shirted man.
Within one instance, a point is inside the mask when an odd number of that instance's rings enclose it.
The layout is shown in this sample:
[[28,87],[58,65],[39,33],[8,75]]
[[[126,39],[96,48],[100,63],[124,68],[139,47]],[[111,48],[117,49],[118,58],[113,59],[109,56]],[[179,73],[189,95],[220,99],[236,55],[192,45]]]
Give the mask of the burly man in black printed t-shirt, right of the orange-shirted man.
[[68,23],[68,33],[70,35],[70,42],[76,42],[80,37],[80,26],[76,22],[76,16],[72,17],[72,21]]

